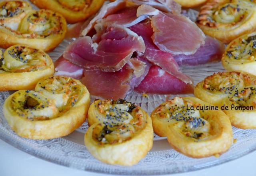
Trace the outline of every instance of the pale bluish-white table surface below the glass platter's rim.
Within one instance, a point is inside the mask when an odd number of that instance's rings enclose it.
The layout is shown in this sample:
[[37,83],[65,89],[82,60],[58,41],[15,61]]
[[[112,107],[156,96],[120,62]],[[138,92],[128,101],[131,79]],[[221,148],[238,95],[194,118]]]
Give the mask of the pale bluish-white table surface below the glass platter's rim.
[[[14,148],[0,140],[0,176],[100,176],[54,164]],[[256,176],[256,151],[212,168],[175,176]],[[105,176],[109,176],[106,175]]]

